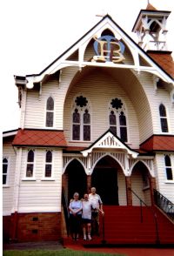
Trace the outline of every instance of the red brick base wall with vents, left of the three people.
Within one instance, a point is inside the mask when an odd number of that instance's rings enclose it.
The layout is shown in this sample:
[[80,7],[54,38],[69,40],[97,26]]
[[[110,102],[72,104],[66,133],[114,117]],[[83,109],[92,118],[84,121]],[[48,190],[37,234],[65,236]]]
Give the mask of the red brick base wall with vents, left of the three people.
[[[6,218],[5,218],[6,219]],[[11,226],[14,218],[10,217]],[[8,219],[4,220],[6,223]],[[17,239],[18,242],[48,241],[61,239],[61,212],[47,213],[17,213],[16,238],[12,238],[14,231],[8,231],[9,226],[4,226],[4,235],[10,235],[9,239]]]

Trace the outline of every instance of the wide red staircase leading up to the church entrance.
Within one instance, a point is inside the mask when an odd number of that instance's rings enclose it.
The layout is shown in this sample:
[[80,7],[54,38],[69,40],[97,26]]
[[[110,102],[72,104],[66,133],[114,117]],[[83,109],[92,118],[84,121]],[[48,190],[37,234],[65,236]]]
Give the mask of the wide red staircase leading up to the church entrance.
[[[151,206],[117,206],[104,205],[104,226],[100,218],[100,237],[93,236],[91,241],[72,241],[64,239],[64,245],[83,244],[84,246],[100,245],[174,245],[174,225],[157,207],[156,221]],[[103,233],[104,229],[104,233]]]

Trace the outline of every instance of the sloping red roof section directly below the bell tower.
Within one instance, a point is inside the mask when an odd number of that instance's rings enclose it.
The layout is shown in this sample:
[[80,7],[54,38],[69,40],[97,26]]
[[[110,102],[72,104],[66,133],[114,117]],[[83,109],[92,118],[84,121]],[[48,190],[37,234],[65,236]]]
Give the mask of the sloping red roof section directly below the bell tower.
[[147,51],[147,54],[171,77],[174,77],[174,61],[171,57],[171,51]]

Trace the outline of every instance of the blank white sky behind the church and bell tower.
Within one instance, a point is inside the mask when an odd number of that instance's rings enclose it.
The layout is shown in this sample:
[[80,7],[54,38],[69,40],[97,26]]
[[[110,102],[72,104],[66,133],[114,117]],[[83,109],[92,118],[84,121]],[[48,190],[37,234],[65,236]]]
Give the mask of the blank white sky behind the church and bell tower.
[[[147,3],[147,0],[2,0],[2,131],[20,127],[14,75],[43,71],[101,20],[97,15],[108,13],[137,42],[131,30]],[[157,10],[172,11],[167,28],[169,51],[173,51],[174,1],[150,0],[150,3]]]

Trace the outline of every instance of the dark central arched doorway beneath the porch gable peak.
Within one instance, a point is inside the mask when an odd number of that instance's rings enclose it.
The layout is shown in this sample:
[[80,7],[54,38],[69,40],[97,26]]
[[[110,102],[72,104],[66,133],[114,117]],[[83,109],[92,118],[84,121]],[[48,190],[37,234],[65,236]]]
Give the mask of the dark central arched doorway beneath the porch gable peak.
[[100,159],[91,176],[104,205],[118,205],[117,162],[106,156]]

